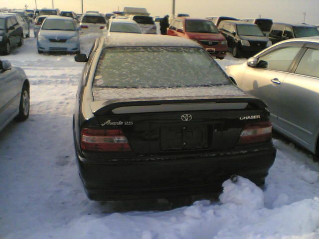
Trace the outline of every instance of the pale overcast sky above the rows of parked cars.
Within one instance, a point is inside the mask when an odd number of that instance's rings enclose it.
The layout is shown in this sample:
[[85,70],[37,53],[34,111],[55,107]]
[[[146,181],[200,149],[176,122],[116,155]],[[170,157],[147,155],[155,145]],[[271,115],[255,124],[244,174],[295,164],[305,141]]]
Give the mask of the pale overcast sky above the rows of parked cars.
[[[172,0],[83,0],[84,11],[112,12],[124,6],[146,7],[152,16],[171,14]],[[37,7],[52,7],[52,0],[36,0]],[[35,8],[35,0],[0,0],[0,7]],[[54,0],[60,10],[81,12],[81,0]],[[194,17],[227,15],[238,18],[272,18],[275,21],[306,22],[319,25],[319,0],[176,0],[175,13]]]

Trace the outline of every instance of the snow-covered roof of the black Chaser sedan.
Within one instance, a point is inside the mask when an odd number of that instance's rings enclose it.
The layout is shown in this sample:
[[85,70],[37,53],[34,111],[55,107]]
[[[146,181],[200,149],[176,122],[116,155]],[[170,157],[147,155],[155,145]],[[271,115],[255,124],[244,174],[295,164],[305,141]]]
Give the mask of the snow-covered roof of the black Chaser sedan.
[[105,47],[125,46],[178,46],[178,47],[200,47],[197,42],[182,37],[172,37],[155,34],[127,34],[110,35],[105,39]]

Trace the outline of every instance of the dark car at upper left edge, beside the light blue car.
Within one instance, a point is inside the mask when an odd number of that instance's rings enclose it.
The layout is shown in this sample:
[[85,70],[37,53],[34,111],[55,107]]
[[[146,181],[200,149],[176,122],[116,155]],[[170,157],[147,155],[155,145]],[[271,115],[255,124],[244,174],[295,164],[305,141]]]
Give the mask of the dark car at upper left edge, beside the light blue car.
[[23,45],[23,29],[15,16],[0,15],[0,51],[10,54],[11,47]]

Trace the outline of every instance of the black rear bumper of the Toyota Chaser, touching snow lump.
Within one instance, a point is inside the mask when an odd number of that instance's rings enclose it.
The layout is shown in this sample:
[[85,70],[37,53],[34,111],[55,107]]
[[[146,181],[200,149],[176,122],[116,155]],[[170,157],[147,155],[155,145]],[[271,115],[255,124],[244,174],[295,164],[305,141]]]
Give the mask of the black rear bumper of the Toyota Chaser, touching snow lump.
[[276,148],[252,151],[144,157],[94,162],[77,155],[85,191],[92,200],[163,198],[221,191],[231,175],[263,185],[273,165]]

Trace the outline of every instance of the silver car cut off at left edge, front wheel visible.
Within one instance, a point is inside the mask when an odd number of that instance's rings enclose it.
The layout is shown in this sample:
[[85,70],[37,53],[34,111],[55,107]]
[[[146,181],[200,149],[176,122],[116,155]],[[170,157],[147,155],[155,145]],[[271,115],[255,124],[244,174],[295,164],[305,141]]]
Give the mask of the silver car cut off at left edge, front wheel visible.
[[27,119],[29,109],[30,84],[24,71],[0,61],[0,130],[12,119]]

